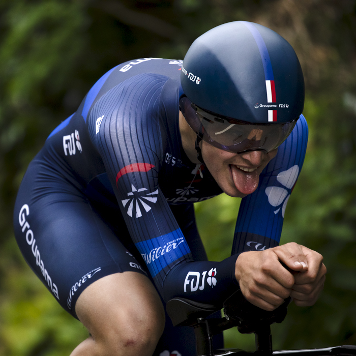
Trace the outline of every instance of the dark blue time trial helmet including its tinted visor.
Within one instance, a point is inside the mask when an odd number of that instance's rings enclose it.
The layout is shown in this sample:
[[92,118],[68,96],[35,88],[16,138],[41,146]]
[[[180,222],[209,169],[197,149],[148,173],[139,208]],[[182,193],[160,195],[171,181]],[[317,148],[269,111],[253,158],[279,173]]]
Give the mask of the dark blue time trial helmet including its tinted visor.
[[293,48],[253,22],[225,23],[198,37],[184,58],[181,84],[180,108],[197,139],[234,153],[274,150],[304,108]]

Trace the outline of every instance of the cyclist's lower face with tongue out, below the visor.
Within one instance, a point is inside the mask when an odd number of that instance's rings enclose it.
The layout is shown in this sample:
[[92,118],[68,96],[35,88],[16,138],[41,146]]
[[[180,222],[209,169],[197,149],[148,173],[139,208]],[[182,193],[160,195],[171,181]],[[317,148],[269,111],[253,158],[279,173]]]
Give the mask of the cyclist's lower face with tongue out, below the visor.
[[[202,141],[201,153],[219,187],[232,197],[243,198],[258,186],[263,168],[276,156],[278,149],[266,153],[250,151],[236,154],[223,151]],[[249,170],[249,171],[248,171]]]

